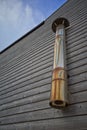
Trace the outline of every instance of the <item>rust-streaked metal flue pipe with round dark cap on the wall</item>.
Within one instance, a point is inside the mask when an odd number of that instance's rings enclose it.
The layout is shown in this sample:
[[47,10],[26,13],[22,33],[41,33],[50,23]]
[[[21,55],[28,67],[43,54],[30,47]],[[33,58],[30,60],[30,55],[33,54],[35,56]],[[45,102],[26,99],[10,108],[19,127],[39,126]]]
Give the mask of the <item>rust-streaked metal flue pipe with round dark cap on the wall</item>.
[[68,25],[69,23],[65,18],[59,18],[52,24],[52,29],[56,32],[56,38],[50,105],[55,108],[64,108],[68,105],[67,74],[64,56],[65,27]]

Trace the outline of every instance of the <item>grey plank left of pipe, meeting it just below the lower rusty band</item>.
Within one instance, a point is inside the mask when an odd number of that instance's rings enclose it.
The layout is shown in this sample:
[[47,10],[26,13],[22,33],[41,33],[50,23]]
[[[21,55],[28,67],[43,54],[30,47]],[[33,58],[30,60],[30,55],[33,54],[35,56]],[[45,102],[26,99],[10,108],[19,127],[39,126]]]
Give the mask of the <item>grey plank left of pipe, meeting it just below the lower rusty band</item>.
[[23,91],[23,92],[17,93],[17,94],[16,93],[11,93],[11,94],[8,93],[7,97],[6,97],[6,95],[4,95],[5,98],[3,98],[3,96],[1,96],[0,104],[5,104],[5,103],[12,102],[15,100],[19,100],[19,99],[27,98],[27,97],[30,97],[33,95],[37,95],[37,94],[40,94],[42,92],[46,92],[46,91],[50,90],[50,88],[51,88],[51,84],[47,84],[45,86],[41,86],[41,87],[34,88],[34,89],[29,89],[27,91]]

